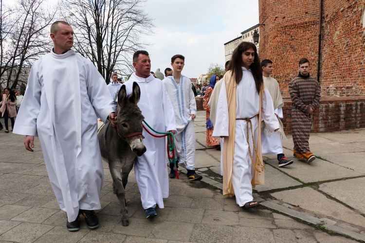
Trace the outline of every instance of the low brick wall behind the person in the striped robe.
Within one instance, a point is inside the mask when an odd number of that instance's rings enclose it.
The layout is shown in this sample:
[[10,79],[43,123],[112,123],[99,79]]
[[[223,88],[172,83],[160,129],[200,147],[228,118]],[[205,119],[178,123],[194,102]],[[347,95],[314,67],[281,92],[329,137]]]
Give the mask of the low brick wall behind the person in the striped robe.
[[[292,100],[283,96],[281,121],[286,134],[292,134]],[[322,97],[314,112],[311,132],[332,132],[365,127],[365,96]]]

